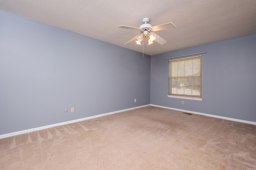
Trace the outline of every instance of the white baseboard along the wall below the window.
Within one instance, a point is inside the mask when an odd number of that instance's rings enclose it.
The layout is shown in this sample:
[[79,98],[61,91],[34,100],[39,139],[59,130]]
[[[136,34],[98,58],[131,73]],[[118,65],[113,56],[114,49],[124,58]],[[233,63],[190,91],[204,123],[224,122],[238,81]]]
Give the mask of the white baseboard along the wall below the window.
[[238,121],[238,122],[242,122],[242,123],[248,123],[248,124],[256,125],[256,122],[254,122],[254,121],[246,121],[246,120],[240,120],[240,119],[233,119],[233,118],[230,118],[230,117],[223,117],[223,116],[217,116],[217,115],[210,115],[210,114],[200,113],[200,112],[196,112],[196,111],[189,111],[189,110],[183,110],[183,109],[176,109],[176,108],[172,108],[172,107],[158,106],[158,105],[154,105],[154,104],[150,104],[150,106],[162,107],[162,108],[165,108],[165,109],[172,109],[172,110],[182,111],[182,112],[186,112],[186,113],[193,113],[193,114],[198,114],[198,115],[205,115],[205,116],[209,116],[209,117],[216,117],[216,118],[219,118],[219,119],[226,119],[226,120],[232,120],[232,121]]

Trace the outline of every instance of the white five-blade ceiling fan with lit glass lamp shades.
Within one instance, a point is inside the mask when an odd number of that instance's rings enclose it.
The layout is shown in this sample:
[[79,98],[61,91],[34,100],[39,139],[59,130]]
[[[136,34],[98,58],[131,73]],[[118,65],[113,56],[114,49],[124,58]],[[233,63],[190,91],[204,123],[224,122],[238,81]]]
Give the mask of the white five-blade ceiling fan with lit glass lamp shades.
[[175,28],[176,26],[170,22],[170,23],[164,23],[162,25],[156,25],[156,26],[152,27],[152,25],[148,23],[149,21],[150,21],[149,18],[143,18],[142,22],[144,24],[140,25],[139,28],[130,27],[130,26],[126,26],[126,25],[118,26],[118,28],[133,29],[133,30],[140,31],[140,34],[133,37],[130,41],[128,41],[124,45],[130,44],[130,43],[132,43],[132,41],[135,41],[136,39],[137,39],[136,43],[141,45],[140,42],[143,40],[143,37],[148,37],[148,45],[153,44],[154,41],[158,42],[161,45],[164,45],[167,41],[165,39],[163,39],[162,37],[160,37],[159,35],[157,35],[156,33],[154,33],[154,31]]

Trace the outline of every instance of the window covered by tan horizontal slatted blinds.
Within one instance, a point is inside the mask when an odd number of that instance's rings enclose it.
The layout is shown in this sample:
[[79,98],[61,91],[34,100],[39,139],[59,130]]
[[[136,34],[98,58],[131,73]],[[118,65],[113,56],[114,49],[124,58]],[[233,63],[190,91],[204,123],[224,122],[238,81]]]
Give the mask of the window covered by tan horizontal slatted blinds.
[[202,55],[169,60],[169,95],[202,98]]

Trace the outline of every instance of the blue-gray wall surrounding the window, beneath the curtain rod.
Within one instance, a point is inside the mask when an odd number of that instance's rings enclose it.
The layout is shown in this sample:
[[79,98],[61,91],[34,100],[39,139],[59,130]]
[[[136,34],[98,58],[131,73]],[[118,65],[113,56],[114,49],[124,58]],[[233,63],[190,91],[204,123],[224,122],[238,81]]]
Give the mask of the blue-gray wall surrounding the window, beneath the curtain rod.
[[[204,51],[203,100],[168,98],[165,58]],[[150,103],[256,122],[256,34],[151,56]]]

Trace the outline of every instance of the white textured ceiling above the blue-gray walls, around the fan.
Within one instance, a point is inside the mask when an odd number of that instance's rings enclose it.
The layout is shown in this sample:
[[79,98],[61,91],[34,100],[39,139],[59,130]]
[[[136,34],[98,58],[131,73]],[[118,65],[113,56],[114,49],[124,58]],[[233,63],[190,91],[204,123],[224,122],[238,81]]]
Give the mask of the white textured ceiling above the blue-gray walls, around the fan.
[[174,23],[156,32],[167,43],[145,43],[148,55],[256,33],[256,0],[0,0],[0,10],[139,52],[142,45],[124,45],[139,31],[119,25]]

